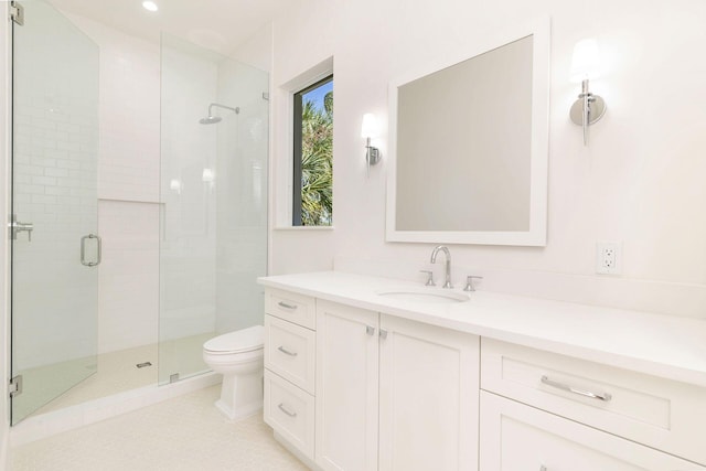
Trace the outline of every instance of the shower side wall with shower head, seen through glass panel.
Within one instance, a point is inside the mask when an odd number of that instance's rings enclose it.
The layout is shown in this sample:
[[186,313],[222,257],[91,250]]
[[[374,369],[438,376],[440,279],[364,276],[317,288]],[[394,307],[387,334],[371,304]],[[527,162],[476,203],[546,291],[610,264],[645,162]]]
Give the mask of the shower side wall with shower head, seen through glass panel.
[[228,332],[263,323],[255,279],[267,270],[268,77],[227,60],[217,83],[218,100],[239,108],[234,126],[218,130],[216,162],[216,331]]

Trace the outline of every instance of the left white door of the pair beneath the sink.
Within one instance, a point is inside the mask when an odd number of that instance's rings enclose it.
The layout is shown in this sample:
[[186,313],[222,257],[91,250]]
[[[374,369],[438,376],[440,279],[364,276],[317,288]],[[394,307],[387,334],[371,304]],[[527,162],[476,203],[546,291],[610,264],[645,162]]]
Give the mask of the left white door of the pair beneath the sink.
[[372,311],[317,300],[315,461],[377,469],[377,330]]

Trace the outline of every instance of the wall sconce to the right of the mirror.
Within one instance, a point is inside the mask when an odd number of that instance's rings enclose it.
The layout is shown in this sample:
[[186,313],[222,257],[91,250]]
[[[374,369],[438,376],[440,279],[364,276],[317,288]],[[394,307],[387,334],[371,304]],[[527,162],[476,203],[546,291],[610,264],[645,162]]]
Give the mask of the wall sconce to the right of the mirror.
[[581,93],[571,106],[571,121],[584,128],[584,146],[588,146],[588,127],[606,114],[606,101],[588,89],[588,81],[598,76],[598,43],[595,39],[582,40],[574,46],[571,82],[581,83]]

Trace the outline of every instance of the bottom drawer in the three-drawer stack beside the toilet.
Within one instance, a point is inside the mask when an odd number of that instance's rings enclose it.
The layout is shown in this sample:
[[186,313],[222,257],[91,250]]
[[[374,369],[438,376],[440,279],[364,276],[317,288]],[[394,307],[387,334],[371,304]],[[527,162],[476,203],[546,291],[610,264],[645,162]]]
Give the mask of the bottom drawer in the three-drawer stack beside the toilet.
[[313,414],[312,395],[265,370],[265,422],[312,460]]

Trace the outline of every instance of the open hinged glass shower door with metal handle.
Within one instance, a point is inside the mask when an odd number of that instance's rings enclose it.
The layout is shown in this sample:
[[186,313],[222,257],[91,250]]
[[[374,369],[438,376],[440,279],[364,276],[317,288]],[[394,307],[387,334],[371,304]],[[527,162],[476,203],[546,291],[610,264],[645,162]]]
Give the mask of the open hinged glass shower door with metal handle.
[[41,0],[15,2],[12,424],[96,372],[98,47]]

